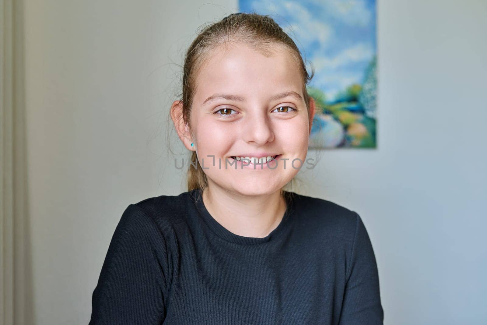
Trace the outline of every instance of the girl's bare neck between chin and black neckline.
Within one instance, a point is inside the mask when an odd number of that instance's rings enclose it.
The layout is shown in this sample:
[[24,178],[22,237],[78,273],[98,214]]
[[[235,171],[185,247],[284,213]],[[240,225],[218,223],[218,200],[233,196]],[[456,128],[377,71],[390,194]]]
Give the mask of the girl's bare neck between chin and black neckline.
[[286,211],[286,200],[279,190],[248,197],[211,184],[202,198],[206,210],[220,225],[245,237],[266,237],[281,223]]

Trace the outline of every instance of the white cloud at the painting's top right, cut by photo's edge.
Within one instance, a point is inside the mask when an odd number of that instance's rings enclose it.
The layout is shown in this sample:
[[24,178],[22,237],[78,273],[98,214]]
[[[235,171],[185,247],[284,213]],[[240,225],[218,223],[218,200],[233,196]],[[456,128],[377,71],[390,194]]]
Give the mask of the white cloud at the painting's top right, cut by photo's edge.
[[[348,25],[367,26],[372,13],[364,0],[310,0],[323,10]],[[308,2],[309,3],[309,2]]]

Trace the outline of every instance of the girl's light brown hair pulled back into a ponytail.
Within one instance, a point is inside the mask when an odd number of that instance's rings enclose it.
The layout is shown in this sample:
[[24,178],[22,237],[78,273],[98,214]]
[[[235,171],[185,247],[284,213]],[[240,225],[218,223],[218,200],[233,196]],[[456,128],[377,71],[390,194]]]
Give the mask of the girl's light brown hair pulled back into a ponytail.
[[[183,68],[183,93],[180,98],[182,97],[181,101],[183,103],[183,120],[187,124],[188,129],[198,72],[210,57],[212,50],[220,46],[226,47],[231,42],[246,44],[266,57],[272,55],[274,46],[280,46],[282,49],[287,50],[300,69],[303,84],[302,93],[306,102],[308,116],[311,118],[309,94],[306,85],[313,78],[314,70],[311,76],[308,75],[300,50],[295,42],[269,15],[264,16],[255,12],[238,13],[231,14],[218,22],[203,27],[187,49]],[[293,180],[286,184],[284,188],[292,190]],[[206,174],[198,163],[196,152],[193,151],[187,172],[187,189],[188,191],[194,189],[204,190],[207,186]]]

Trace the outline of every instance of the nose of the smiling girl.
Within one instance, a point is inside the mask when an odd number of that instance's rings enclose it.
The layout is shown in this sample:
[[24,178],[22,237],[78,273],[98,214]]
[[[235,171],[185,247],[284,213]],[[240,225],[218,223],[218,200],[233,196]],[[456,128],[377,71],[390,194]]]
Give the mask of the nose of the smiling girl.
[[265,112],[246,116],[242,131],[244,141],[257,146],[263,146],[267,142],[274,140],[272,123]]

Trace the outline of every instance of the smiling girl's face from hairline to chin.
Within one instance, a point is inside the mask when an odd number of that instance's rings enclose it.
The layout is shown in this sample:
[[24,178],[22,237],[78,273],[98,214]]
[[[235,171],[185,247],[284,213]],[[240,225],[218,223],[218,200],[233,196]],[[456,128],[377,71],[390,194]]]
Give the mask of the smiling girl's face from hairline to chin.
[[[210,186],[242,195],[270,194],[306,165],[310,119],[291,54],[276,47],[272,57],[265,57],[243,44],[216,49],[196,87],[192,141]],[[314,113],[313,101],[311,107]],[[236,156],[276,157],[261,165]]]

